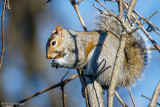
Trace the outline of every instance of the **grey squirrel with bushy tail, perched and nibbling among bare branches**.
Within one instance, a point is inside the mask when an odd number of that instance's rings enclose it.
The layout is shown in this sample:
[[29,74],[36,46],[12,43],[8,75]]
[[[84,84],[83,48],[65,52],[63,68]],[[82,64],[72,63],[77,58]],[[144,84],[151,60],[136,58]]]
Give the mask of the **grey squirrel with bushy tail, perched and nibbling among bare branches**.
[[[104,89],[108,89],[123,28],[116,18],[103,15],[97,19],[97,26],[99,30],[78,32],[57,25],[47,41],[46,57],[53,59],[52,67],[82,69],[84,74],[94,76]],[[141,77],[147,65],[147,53],[141,35],[137,32],[130,34],[116,88],[127,87]]]

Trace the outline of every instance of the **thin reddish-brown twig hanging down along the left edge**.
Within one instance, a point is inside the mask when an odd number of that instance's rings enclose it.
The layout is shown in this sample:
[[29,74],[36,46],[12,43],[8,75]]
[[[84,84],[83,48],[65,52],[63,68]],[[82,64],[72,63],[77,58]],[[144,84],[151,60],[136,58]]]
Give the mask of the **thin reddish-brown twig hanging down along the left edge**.
[[2,68],[2,61],[3,61],[3,54],[4,54],[4,26],[3,26],[3,21],[4,21],[4,14],[5,14],[5,10],[6,10],[6,5],[7,5],[7,2],[6,2],[6,0],[4,0],[3,11],[2,11],[2,16],[1,16],[2,51],[1,51],[0,71],[1,71],[1,68]]

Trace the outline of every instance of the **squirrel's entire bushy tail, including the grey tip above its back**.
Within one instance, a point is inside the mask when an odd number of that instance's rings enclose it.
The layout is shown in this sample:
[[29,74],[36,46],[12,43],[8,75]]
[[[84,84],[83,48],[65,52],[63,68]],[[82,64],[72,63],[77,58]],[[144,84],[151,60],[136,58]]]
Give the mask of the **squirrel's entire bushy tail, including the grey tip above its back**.
[[[98,30],[109,31],[120,37],[122,26],[112,16],[99,15],[96,22]],[[148,61],[148,52],[142,35],[132,33],[124,49],[124,70],[121,72],[123,86],[128,86],[139,78]]]

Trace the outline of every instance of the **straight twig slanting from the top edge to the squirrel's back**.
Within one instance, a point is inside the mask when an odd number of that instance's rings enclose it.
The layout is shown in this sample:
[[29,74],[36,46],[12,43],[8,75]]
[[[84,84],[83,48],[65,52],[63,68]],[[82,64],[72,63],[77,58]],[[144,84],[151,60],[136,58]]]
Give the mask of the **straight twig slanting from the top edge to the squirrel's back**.
[[70,2],[72,4],[72,6],[74,7],[75,11],[77,12],[78,18],[79,18],[79,20],[80,20],[80,22],[82,24],[82,27],[83,27],[84,31],[87,31],[87,28],[86,28],[86,26],[84,24],[84,21],[83,21],[83,19],[81,17],[81,14],[80,14],[79,10],[78,10],[76,1],[75,0],[70,0]]

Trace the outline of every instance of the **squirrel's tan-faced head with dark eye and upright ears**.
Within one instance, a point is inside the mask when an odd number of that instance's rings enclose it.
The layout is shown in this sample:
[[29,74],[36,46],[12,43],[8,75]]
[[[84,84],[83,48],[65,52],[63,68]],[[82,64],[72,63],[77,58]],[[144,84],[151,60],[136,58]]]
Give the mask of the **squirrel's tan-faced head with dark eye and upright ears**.
[[66,55],[64,37],[64,29],[57,25],[56,30],[52,31],[52,35],[46,44],[47,59],[63,58]]

